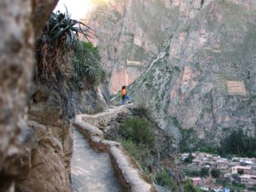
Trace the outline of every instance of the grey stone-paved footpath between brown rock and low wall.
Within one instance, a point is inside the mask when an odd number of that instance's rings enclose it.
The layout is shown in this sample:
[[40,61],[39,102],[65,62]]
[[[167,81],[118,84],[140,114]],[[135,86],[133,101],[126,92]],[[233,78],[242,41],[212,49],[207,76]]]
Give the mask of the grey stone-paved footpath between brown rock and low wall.
[[91,149],[76,128],[73,130],[71,177],[73,192],[122,192],[109,154]]

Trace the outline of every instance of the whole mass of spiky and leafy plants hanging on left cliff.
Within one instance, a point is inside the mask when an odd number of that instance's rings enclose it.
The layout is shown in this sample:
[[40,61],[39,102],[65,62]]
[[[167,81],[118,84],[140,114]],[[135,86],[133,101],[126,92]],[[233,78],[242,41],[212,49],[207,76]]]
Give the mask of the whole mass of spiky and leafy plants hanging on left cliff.
[[68,12],[52,13],[38,39],[35,79],[56,82],[66,76],[79,89],[102,82],[99,51],[90,41],[81,42],[79,34],[88,39],[93,31],[79,20],[71,19]]

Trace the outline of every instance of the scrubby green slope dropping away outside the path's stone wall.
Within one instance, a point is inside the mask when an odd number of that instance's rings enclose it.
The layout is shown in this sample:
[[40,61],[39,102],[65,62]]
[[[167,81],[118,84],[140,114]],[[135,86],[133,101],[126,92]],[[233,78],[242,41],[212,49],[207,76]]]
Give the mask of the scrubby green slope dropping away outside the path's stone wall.
[[179,191],[181,172],[174,166],[177,151],[173,139],[160,130],[148,108],[133,108],[130,115],[120,115],[116,123],[109,129],[108,139],[122,143],[152,182]]

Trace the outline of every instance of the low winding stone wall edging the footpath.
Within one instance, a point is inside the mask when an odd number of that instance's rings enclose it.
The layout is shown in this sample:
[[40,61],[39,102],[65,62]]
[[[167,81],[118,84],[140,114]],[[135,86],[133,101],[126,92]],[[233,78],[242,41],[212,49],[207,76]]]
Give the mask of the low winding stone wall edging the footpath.
[[[121,107],[124,108],[124,107]],[[120,109],[120,108],[119,108]],[[120,109],[122,111],[123,109]],[[119,110],[118,110],[119,111]],[[116,111],[114,111],[116,113]],[[133,160],[120,143],[104,139],[103,132],[96,126],[84,122],[90,115],[77,115],[74,125],[86,137],[90,147],[95,150],[107,152],[110,155],[113,169],[119,178],[119,182],[126,192],[155,192],[154,186],[149,178],[142,172],[137,162]],[[98,116],[102,116],[102,113]],[[113,113],[108,113],[108,117],[113,117]],[[94,119],[90,116],[90,120]],[[98,121],[94,121],[98,122]]]

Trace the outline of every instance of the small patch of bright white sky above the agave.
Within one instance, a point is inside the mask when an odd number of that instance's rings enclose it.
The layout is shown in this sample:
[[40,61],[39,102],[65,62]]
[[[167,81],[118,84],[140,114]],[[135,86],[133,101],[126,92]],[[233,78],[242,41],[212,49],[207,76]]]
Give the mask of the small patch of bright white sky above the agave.
[[55,11],[60,10],[65,12],[65,6],[67,7],[68,13],[71,15],[73,20],[84,19],[87,10],[90,5],[90,0],[60,0],[57,4]]

